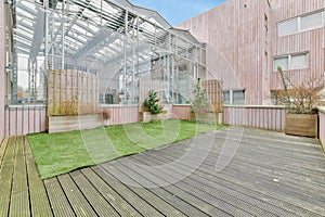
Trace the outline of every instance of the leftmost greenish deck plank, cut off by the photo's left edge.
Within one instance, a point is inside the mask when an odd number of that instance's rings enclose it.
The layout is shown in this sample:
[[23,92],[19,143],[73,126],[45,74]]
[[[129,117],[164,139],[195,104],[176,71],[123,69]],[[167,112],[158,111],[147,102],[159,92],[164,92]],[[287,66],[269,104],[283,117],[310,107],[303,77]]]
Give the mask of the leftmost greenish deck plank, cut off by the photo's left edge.
[[8,140],[8,146],[3,152],[3,161],[0,170],[0,216],[9,215],[12,175],[14,171],[14,156],[15,156],[15,137]]

